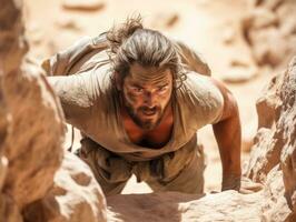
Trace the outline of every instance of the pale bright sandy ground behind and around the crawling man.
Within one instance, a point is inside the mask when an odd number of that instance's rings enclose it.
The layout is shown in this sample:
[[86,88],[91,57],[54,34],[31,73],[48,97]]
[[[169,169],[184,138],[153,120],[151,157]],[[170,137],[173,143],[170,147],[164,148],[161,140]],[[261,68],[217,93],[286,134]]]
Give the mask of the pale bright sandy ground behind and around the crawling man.
[[[251,75],[243,83],[227,83],[238,101],[243,145],[249,148],[257,128],[255,101],[270,75],[267,74],[268,69],[258,69],[254,64],[249,48],[240,34],[240,19],[248,9],[247,0],[101,2],[102,7],[98,10],[68,10],[62,7],[61,0],[27,0],[24,18],[31,44],[30,56],[40,62],[83,36],[96,36],[125,21],[128,16],[141,13],[146,27],[158,29],[196,49],[209,63],[216,79],[221,80],[229,74]],[[237,69],[236,63],[243,63],[244,69]],[[198,133],[207,154],[206,191],[219,190],[221,168],[211,127]],[[70,133],[65,145],[69,144]],[[79,137],[76,137],[75,147],[79,147]],[[243,152],[243,160],[247,158],[248,152]],[[141,192],[150,192],[150,189],[145,183],[136,183],[135,178],[124,190],[124,193]]]

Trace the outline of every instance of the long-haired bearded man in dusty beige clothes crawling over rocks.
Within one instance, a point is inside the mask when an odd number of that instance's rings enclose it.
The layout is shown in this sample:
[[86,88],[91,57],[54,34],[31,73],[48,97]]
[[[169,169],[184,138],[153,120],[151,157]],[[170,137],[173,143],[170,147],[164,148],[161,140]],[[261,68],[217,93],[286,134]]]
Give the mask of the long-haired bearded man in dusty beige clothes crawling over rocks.
[[107,195],[120,193],[132,173],[155,191],[203,193],[196,131],[206,124],[219,147],[221,189],[239,190],[236,101],[221,83],[197,73],[197,64],[193,51],[142,28],[139,18],[43,63],[67,122],[83,135],[78,155]]

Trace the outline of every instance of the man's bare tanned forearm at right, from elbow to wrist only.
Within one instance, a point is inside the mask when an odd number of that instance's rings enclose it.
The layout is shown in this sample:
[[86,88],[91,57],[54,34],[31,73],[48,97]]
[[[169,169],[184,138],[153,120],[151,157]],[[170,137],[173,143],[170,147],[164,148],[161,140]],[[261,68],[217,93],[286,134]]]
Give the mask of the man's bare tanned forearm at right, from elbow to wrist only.
[[223,163],[221,190],[239,190],[241,131],[237,108],[231,117],[214,124],[213,129]]

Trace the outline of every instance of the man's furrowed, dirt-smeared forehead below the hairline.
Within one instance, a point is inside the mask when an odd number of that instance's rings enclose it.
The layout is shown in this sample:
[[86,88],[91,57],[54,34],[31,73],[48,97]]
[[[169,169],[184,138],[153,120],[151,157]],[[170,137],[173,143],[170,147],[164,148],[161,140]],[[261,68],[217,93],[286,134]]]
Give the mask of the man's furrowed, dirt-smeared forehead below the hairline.
[[141,84],[149,83],[169,83],[172,79],[170,69],[159,69],[156,67],[141,67],[137,63],[130,67],[129,74],[127,75],[129,82]]

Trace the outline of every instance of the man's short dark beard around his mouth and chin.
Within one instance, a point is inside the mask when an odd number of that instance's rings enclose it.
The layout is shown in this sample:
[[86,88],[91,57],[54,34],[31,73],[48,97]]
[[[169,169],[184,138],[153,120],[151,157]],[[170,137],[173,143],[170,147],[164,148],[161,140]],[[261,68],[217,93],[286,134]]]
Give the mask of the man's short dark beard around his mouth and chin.
[[126,101],[125,107],[128,114],[138,127],[144,130],[152,130],[161,122],[168,105],[166,105],[165,109],[160,107],[148,108],[146,105],[135,109]]

